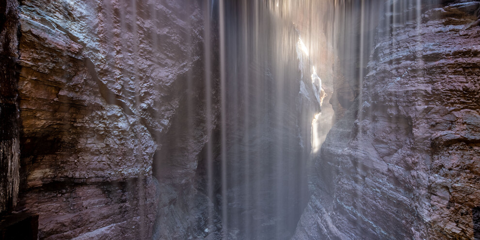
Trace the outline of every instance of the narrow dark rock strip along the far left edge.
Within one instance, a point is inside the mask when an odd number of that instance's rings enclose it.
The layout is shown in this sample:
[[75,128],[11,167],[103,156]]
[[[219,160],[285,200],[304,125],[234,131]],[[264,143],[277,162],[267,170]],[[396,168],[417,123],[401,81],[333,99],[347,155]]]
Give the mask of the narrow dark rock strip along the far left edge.
[[15,0],[0,3],[0,213],[15,207],[19,185],[17,7]]

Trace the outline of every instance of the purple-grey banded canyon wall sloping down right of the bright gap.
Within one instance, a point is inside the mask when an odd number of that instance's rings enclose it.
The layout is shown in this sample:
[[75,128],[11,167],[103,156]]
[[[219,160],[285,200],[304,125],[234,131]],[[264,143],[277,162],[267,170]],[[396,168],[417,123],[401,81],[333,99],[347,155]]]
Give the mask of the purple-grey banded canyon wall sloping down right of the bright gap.
[[480,2],[402,2],[385,5],[293,239],[480,238]]

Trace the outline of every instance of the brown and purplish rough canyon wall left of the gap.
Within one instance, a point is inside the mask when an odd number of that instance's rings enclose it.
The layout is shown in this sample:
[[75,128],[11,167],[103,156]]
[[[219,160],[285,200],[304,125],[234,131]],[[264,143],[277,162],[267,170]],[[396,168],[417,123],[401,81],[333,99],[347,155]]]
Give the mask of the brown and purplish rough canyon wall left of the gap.
[[41,239],[151,239],[154,155],[202,76],[199,2],[26,0],[19,22],[18,209]]

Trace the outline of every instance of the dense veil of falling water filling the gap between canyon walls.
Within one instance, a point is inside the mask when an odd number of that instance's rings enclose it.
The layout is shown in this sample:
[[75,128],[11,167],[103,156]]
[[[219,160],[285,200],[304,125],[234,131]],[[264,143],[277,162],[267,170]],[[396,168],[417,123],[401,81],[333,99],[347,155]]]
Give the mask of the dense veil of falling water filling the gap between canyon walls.
[[[393,9],[394,15],[419,4],[393,2],[392,8],[402,7]],[[165,125],[166,133],[155,136],[163,142],[153,162],[160,196],[166,191],[177,197],[172,207],[160,210],[154,232],[168,237],[181,225],[186,229],[182,234],[191,238],[292,236],[309,200],[308,189],[318,181],[315,161],[329,129],[357,99],[368,97],[362,95],[363,78],[384,11],[380,3],[201,3],[202,45],[194,45],[188,34],[181,44],[187,59],[195,48],[203,48],[202,59],[192,68],[197,70],[177,77],[183,85],[172,96],[181,96],[184,107]],[[128,9],[119,8],[121,30],[133,34],[121,35],[120,41],[122,51],[133,48],[132,61],[124,61],[133,63],[132,108],[139,109],[141,36],[131,22],[137,6],[135,1],[124,4]],[[109,1],[105,5],[112,11]],[[163,17],[160,12],[152,5],[156,29],[166,27],[156,21]],[[188,25],[192,18],[181,20]],[[162,41],[168,37],[152,35],[152,54],[161,55]],[[198,143],[199,136],[204,137]],[[168,216],[182,224],[169,224]]]

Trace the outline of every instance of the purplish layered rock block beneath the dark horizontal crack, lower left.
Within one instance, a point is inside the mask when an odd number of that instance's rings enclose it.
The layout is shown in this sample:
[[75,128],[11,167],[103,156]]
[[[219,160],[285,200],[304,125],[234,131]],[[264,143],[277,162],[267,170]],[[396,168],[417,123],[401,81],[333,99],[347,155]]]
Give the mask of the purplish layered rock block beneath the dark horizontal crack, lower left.
[[154,181],[57,181],[31,189],[20,204],[38,213],[40,239],[151,239]]

